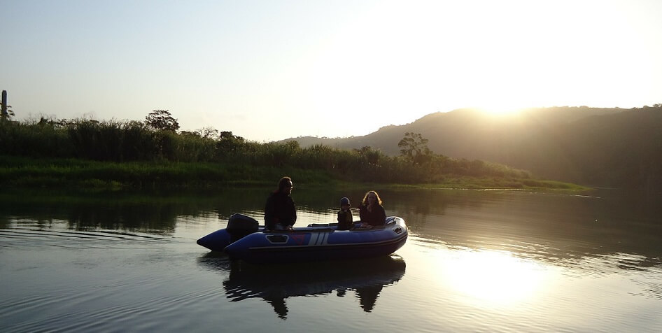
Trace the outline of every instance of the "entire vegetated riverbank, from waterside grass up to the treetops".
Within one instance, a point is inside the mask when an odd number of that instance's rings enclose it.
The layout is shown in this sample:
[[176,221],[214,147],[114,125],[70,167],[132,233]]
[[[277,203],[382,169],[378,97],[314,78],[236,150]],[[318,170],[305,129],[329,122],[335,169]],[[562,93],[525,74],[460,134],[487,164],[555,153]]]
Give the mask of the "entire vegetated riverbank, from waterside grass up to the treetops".
[[388,183],[450,188],[576,188],[528,171],[431,153],[407,133],[400,156],[365,146],[344,150],[296,141],[258,143],[206,128],[178,132],[167,111],[145,122],[28,120],[0,122],[0,184],[7,186],[223,187],[297,183]]

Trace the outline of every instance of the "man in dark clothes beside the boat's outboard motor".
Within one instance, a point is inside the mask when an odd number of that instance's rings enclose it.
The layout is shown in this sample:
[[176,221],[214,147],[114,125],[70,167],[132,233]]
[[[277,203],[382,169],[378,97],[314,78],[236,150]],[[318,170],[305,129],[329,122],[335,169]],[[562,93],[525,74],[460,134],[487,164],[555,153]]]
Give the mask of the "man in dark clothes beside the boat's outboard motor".
[[266,229],[292,229],[294,223],[297,222],[297,208],[290,196],[292,189],[292,178],[285,176],[279,180],[278,189],[267,198],[267,204],[265,205]]

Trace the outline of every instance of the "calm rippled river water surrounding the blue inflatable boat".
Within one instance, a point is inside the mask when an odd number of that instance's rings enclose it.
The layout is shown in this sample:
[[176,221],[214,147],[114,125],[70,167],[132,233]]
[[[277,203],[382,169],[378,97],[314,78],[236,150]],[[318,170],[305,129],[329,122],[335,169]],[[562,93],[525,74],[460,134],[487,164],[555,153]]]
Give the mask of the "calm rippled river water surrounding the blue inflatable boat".
[[[270,189],[0,194],[0,332],[662,332],[655,195],[378,190],[391,257],[254,267],[195,240]],[[367,189],[295,183],[297,225]]]

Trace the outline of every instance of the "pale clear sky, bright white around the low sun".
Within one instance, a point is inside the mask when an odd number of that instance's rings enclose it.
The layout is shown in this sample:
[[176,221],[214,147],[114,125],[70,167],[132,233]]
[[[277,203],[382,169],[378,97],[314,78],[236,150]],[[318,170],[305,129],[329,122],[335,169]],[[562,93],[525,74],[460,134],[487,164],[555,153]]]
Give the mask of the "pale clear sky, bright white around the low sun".
[[660,0],[0,0],[18,120],[144,120],[251,141],[438,111],[662,103]]

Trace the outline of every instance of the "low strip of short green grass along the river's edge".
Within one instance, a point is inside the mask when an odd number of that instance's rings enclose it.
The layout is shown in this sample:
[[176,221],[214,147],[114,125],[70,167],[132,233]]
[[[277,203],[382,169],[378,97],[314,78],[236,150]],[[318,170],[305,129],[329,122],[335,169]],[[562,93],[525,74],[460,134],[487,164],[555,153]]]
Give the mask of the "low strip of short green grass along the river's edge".
[[[369,185],[341,174],[293,166],[251,166],[220,162],[99,162],[77,159],[0,156],[3,187],[61,187],[87,190],[217,189],[272,186],[283,175],[309,187]],[[512,176],[453,176],[436,183],[388,183],[393,187],[587,190],[579,185]],[[379,182],[380,184],[384,184]]]

